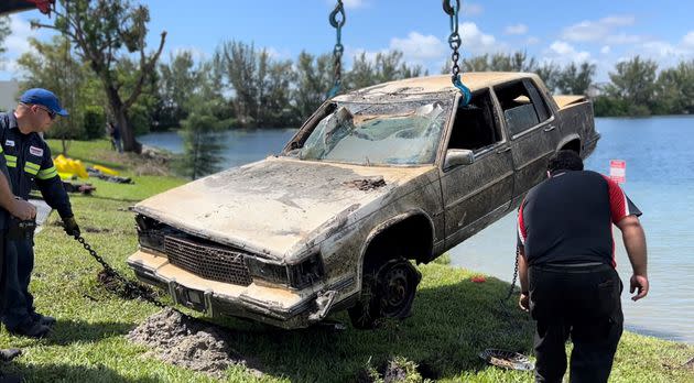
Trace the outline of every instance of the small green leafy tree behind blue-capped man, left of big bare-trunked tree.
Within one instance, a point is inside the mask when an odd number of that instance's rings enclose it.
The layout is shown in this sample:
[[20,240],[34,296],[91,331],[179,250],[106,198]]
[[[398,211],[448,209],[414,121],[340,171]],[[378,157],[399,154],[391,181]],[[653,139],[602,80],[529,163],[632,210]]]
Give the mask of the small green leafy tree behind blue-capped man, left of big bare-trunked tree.
[[54,36],[50,43],[30,39],[29,44],[33,52],[18,59],[18,65],[24,72],[21,88],[51,89],[69,111],[69,118],[57,119],[48,132],[52,138],[61,140],[63,154],[66,154],[69,140],[85,134],[85,107],[90,101],[85,97],[88,95],[85,88],[90,76],[89,69],[72,56],[72,44],[62,35]]

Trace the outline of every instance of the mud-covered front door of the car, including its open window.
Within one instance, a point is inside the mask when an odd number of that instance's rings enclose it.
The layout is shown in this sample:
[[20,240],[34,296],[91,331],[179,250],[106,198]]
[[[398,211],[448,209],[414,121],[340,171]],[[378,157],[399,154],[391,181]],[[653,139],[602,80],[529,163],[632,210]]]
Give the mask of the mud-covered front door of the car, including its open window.
[[447,134],[446,152],[452,150],[471,151],[473,162],[441,168],[446,248],[494,222],[512,197],[513,160],[489,89],[456,109]]

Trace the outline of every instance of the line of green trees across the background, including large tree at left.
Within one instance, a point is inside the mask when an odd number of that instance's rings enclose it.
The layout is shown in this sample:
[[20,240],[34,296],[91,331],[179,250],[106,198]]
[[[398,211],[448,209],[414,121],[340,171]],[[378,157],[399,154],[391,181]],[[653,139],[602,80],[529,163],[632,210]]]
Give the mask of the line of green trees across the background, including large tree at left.
[[[207,163],[205,153],[214,152],[205,146],[214,146],[210,136],[237,127],[299,127],[334,83],[330,54],[302,52],[295,61],[280,59],[234,40],[220,43],[208,59],[177,52],[163,63],[166,33],[155,50],[148,50],[145,6],[126,0],[57,3],[53,23],[33,25],[59,34],[47,42],[31,40],[33,50],[18,64],[23,89],[50,88],[71,111],[51,132],[63,140],[64,150],[71,139],[102,136],[107,120],[120,128],[123,149],[130,152],[141,149],[138,134],[182,130],[186,153],[192,153],[186,157],[199,168],[195,164]],[[0,18],[0,54],[8,33],[7,19]],[[636,56],[616,64],[606,84],[595,83],[595,64],[539,63],[524,52],[464,58],[460,69],[534,72],[553,92],[590,96],[598,117],[694,112],[694,61],[661,70],[654,61]],[[441,69],[449,72],[449,66]],[[361,53],[344,73],[341,91],[422,75],[429,72],[404,63],[401,52]]]

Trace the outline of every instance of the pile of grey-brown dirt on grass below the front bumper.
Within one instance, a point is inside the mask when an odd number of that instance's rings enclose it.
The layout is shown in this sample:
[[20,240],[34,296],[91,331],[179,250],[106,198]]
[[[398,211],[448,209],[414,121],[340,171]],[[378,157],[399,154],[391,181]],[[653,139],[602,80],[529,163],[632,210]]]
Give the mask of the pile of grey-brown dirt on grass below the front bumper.
[[[132,342],[152,348],[145,355],[164,362],[223,377],[232,364],[246,365],[246,360],[231,350],[223,330],[166,308],[149,317],[128,333]],[[260,377],[258,370],[247,371]]]

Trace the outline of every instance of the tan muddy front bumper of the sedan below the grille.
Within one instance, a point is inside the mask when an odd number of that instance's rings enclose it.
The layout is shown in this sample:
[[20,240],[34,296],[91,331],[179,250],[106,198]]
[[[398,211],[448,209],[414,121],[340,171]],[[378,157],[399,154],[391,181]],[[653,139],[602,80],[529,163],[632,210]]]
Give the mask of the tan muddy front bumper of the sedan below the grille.
[[[326,292],[321,284],[292,291],[256,282],[240,286],[209,281],[169,263],[165,256],[142,250],[128,258],[128,265],[141,282],[167,291],[175,304],[210,317],[242,317],[293,329],[323,319],[330,308],[316,302]],[[316,315],[319,311],[322,315]]]

